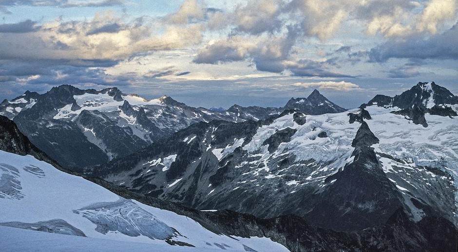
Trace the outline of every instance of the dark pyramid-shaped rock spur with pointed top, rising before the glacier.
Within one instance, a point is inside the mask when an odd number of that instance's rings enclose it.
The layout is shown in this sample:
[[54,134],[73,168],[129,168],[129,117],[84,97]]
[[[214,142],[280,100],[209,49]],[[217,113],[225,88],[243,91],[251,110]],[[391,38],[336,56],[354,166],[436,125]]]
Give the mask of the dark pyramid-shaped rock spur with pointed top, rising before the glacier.
[[386,223],[401,208],[400,193],[370,147],[378,142],[363,122],[352,142],[354,161],[326,179],[330,185],[306,217],[312,224],[339,231],[363,230]]

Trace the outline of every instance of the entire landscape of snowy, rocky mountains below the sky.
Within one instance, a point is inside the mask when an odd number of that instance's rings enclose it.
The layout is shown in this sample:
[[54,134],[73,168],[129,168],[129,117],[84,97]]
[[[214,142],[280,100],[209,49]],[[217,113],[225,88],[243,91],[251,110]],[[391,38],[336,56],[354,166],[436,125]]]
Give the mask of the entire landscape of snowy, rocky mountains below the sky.
[[61,85],[0,115],[2,251],[457,251],[458,97],[434,82],[350,110]]

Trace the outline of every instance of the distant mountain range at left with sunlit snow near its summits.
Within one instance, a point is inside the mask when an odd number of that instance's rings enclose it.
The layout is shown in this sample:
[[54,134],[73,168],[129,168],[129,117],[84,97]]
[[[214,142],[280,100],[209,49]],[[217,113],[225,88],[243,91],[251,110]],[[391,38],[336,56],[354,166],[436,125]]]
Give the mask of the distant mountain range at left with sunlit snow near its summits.
[[211,111],[167,96],[146,100],[115,87],[97,91],[71,85],[42,95],[27,91],[0,103],[0,115],[14,119],[39,149],[75,170],[133,153],[200,121],[257,121],[282,111],[238,105]]

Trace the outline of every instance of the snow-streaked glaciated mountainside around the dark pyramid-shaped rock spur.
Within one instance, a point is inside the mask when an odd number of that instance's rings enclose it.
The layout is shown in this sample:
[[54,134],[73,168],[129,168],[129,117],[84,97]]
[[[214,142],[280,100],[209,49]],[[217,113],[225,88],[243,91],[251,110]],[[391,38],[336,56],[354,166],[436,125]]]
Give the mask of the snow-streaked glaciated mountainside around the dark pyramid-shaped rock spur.
[[[364,121],[379,139],[371,145],[377,169],[403,197],[399,201],[411,217],[420,219],[427,212],[412,203],[418,201],[456,222],[458,118],[425,114],[428,127],[423,127],[392,111],[373,105],[307,115],[301,124],[297,112],[264,123],[201,123],[94,172],[198,209],[231,209],[262,218],[306,216],[319,195],[339,182],[334,175],[355,161],[352,142]],[[191,137],[190,143],[184,141]],[[143,165],[171,154],[176,161],[165,172],[160,165]]]

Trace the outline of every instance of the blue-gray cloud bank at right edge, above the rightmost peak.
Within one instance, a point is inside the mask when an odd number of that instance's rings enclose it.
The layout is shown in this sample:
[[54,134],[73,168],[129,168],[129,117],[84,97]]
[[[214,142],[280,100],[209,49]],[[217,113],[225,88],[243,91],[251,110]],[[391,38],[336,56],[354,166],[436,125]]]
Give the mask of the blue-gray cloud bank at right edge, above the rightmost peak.
[[385,62],[390,58],[458,59],[458,23],[450,30],[423,39],[413,35],[405,39],[391,39],[369,52],[371,62]]

